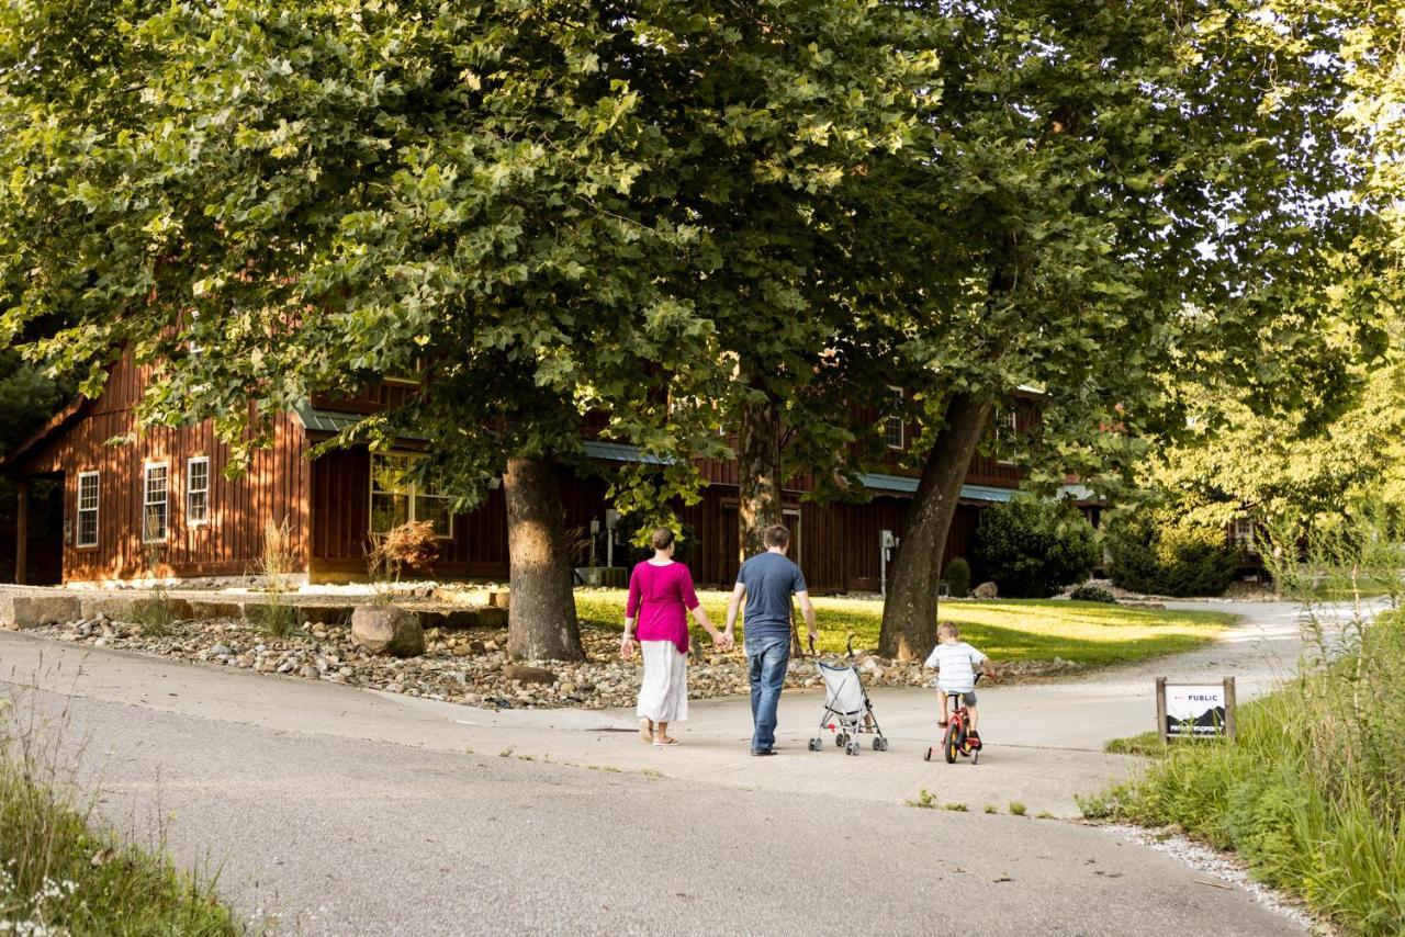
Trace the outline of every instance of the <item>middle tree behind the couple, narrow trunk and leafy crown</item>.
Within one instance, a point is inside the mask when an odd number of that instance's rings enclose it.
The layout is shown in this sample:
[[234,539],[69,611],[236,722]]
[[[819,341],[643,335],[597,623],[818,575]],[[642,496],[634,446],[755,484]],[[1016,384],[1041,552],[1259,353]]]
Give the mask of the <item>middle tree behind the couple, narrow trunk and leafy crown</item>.
[[631,81],[683,155],[676,198],[702,235],[677,292],[710,323],[736,431],[743,552],[781,521],[795,473],[822,480],[854,443],[849,365],[863,309],[910,230],[888,163],[930,159],[934,27],[905,4],[693,3],[663,18]]

